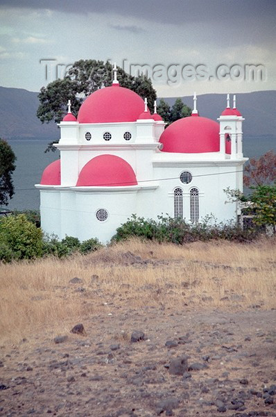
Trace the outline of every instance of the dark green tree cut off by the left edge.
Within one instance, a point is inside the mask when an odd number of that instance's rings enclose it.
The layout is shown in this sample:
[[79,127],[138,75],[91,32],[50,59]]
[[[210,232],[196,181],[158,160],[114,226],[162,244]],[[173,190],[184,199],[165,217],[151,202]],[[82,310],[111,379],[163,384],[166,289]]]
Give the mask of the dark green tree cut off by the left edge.
[[6,140],[0,138],[0,204],[7,205],[15,190],[12,172],[15,170],[16,156]]

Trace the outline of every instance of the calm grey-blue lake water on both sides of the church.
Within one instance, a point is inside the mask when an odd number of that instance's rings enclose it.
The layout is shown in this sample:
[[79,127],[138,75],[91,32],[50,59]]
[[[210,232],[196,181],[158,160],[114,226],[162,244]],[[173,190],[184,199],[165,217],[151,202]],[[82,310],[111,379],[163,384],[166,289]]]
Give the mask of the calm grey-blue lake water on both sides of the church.
[[[13,173],[15,195],[10,200],[8,208],[24,210],[40,207],[40,192],[34,184],[40,182],[44,167],[59,158],[59,152],[47,152],[50,140],[10,140],[9,143],[17,156],[16,170]],[[270,149],[275,149],[275,138],[244,138],[243,147],[245,156],[260,156]]]

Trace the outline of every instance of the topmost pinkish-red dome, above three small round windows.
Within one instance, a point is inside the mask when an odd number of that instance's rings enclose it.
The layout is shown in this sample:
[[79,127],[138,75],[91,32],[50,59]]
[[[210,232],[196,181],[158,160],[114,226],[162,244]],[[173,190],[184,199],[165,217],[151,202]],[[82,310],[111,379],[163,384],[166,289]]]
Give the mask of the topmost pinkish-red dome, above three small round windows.
[[80,106],[80,123],[136,122],[144,101],[136,92],[119,85],[96,90]]

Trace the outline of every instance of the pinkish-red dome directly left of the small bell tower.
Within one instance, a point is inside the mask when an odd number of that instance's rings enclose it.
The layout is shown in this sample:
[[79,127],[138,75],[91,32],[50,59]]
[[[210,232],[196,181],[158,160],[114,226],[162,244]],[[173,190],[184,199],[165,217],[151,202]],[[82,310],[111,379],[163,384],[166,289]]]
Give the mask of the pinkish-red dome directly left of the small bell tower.
[[198,154],[219,151],[219,125],[207,117],[176,120],[160,136],[162,152]]

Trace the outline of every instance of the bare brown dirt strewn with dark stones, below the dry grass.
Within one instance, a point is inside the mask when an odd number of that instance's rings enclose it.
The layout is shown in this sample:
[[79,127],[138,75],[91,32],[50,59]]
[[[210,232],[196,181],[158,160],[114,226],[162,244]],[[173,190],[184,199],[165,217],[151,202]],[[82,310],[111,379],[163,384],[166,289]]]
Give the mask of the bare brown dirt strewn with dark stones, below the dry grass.
[[[274,310],[107,305],[83,325],[62,343],[1,348],[1,416],[276,416]],[[135,330],[144,340],[130,341]],[[172,375],[183,355],[189,368]]]

